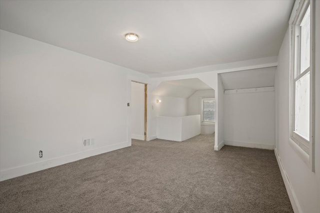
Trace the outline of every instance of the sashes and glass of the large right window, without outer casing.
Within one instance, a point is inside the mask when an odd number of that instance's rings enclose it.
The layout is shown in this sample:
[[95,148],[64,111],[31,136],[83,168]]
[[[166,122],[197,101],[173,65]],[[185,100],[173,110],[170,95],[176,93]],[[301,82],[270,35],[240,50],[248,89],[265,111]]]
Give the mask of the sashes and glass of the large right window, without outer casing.
[[[310,132],[310,5],[294,26],[294,120],[292,137],[308,153]],[[299,23],[300,22],[300,23]]]

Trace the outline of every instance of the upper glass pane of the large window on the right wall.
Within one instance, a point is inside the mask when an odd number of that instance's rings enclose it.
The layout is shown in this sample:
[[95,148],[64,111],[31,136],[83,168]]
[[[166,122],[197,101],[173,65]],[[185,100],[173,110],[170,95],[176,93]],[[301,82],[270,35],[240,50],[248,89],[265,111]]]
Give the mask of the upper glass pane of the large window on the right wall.
[[301,63],[300,73],[310,66],[310,5],[301,21]]

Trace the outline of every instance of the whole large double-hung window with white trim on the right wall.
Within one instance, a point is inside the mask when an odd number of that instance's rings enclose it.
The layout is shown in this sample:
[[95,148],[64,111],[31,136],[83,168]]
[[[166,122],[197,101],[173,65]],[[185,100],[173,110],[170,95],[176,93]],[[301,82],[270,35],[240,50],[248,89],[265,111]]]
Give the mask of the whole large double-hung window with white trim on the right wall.
[[[291,104],[290,139],[305,152],[312,163],[312,14],[313,2],[297,0],[290,17],[291,24]],[[301,151],[299,151],[301,152]],[[313,171],[313,169],[312,169]]]

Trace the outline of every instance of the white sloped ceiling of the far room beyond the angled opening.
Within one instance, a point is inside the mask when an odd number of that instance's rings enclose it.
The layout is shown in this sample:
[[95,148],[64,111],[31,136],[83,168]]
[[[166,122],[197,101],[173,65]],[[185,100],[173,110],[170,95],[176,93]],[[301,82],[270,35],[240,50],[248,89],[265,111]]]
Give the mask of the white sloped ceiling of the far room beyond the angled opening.
[[152,92],[153,95],[188,98],[197,90],[212,89],[198,78],[163,81]]

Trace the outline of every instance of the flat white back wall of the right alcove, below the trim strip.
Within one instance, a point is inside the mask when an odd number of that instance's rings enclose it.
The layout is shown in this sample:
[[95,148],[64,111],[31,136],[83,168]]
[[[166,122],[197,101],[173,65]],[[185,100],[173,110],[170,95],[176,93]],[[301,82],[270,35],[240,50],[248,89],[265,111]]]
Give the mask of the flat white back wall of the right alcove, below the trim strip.
[[224,94],[224,144],[273,150],[274,119],[274,92]]

